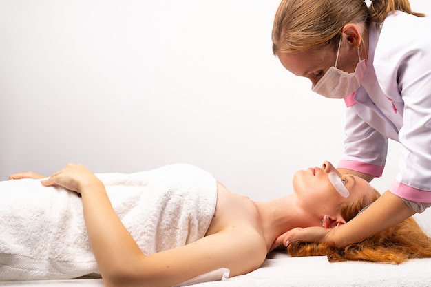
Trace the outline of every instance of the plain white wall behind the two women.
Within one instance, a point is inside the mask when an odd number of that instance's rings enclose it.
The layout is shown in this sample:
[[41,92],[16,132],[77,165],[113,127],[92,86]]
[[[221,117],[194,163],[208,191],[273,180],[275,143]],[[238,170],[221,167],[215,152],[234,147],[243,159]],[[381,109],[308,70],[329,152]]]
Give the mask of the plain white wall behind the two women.
[[297,169],[338,162],[344,105],[271,53],[279,1],[1,0],[0,179],[188,162],[254,200],[290,193]]

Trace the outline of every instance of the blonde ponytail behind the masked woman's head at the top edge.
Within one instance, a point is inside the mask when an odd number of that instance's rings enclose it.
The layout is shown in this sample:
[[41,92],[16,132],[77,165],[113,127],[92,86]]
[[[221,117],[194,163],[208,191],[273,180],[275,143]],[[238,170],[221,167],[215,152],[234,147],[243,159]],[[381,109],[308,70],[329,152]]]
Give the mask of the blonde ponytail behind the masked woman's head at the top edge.
[[371,21],[375,22],[377,27],[380,27],[388,14],[395,13],[396,10],[417,17],[425,17],[425,14],[412,12],[408,0],[372,0],[369,8]]

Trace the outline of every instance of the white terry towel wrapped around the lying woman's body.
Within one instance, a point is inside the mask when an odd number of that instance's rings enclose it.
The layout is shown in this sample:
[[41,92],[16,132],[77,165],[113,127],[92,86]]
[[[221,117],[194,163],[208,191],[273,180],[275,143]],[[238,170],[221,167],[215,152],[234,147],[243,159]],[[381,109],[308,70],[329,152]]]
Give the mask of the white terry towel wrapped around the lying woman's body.
[[[215,179],[188,164],[97,176],[146,255],[203,237],[215,211]],[[0,182],[0,281],[92,273],[99,271],[76,193],[40,180]]]

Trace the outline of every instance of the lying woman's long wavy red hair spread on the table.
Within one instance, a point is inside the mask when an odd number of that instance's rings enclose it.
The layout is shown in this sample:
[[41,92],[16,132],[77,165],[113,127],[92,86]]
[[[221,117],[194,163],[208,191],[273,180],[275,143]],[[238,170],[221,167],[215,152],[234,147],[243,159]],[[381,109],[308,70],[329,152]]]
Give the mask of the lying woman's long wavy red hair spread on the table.
[[[375,192],[372,201],[380,196]],[[349,206],[341,206],[341,215],[349,221],[366,204],[366,200],[361,198]],[[431,257],[431,237],[410,217],[386,231],[343,248],[330,242],[293,242],[288,245],[287,252],[292,257],[324,255],[330,262],[361,260],[400,264],[406,259]]]

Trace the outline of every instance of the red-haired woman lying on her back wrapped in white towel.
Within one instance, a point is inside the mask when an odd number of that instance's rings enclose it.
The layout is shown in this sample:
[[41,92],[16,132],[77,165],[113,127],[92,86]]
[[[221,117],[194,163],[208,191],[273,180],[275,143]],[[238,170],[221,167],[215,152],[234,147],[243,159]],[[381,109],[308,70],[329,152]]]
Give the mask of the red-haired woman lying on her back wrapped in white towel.
[[[50,178],[10,178],[0,182],[0,281],[98,274],[105,286],[174,286],[217,270],[233,277],[259,268],[286,231],[342,228],[379,197],[330,162],[297,171],[293,193],[269,202],[187,164],[98,175],[70,164]],[[431,257],[431,240],[410,218],[347,248],[294,242],[288,252],[399,263]]]

